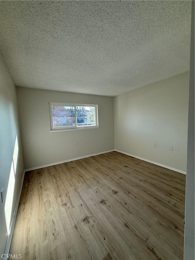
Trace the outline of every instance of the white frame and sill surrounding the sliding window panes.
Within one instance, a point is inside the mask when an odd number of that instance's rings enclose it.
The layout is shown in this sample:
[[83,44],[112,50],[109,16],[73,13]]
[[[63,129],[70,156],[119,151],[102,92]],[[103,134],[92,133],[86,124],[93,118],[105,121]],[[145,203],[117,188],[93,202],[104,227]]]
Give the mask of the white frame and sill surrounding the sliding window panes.
[[[53,118],[52,118],[52,109],[51,109],[52,106],[72,106],[72,107],[74,107],[74,109],[75,109],[75,126],[54,127],[53,126]],[[96,125],[94,125],[94,126],[77,126],[76,106],[95,107],[95,123],[96,123]],[[99,125],[98,125],[98,105],[49,102],[49,116],[50,116],[50,127],[51,127],[50,132],[99,128]]]

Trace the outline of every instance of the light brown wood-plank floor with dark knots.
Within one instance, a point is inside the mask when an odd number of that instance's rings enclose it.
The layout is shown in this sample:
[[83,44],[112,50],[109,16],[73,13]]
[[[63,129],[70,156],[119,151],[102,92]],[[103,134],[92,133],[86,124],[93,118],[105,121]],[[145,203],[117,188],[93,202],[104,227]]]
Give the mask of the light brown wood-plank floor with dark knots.
[[183,259],[185,180],[115,151],[29,171],[10,254]]

